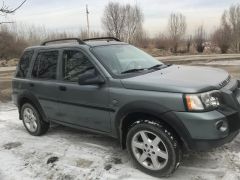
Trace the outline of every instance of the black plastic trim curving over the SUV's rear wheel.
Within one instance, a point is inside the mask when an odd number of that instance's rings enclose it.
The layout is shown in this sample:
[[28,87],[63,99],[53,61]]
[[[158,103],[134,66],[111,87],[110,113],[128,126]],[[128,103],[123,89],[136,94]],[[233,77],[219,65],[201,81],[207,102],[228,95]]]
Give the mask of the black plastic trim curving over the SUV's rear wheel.
[[[28,99],[30,101],[30,103],[37,109],[37,111],[40,113],[40,116],[42,117],[43,121],[49,122],[46,114],[43,111],[43,108],[42,108],[41,104],[38,101],[38,98],[33,93],[31,93],[30,91],[25,90],[21,93],[18,93],[17,105],[18,105],[18,108],[19,108],[19,112],[21,111],[21,107],[20,107],[21,101],[24,98]],[[22,119],[21,113],[19,113],[19,119]]]

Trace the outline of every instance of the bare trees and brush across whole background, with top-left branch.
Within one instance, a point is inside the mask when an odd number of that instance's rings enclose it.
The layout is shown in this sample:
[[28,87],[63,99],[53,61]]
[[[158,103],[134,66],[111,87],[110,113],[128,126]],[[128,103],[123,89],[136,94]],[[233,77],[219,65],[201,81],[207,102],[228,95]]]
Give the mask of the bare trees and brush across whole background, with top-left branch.
[[[0,15],[13,13],[16,8],[3,6]],[[0,22],[0,59],[19,57],[22,50],[30,45],[38,45],[45,39],[80,37],[114,36],[122,41],[134,44],[140,48],[156,48],[176,53],[202,53],[207,48],[218,48],[221,53],[240,52],[240,4],[226,9],[221,17],[218,28],[208,33],[203,25],[196,28],[192,34],[186,34],[186,17],[182,13],[171,13],[166,27],[168,33],[159,33],[150,37],[143,28],[144,14],[137,4],[121,4],[109,2],[101,18],[103,32],[80,29],[79,32],[51,31],[43,26],[20,23],[1,24]]]

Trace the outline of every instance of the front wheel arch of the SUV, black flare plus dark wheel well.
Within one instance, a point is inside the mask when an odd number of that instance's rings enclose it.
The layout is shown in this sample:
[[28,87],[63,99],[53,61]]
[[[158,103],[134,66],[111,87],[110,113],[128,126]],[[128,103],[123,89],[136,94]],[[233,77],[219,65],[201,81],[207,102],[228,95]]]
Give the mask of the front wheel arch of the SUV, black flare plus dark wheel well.
[[151,121],[166,125],[176,133],[184,147],[188,149],[190,134],[183,123],[168,108],[149,102],[135,102],[124,106],[116,115],[115,128],[121,147],[126,147],[126,136],[133,123],[143,118],[150,118]]

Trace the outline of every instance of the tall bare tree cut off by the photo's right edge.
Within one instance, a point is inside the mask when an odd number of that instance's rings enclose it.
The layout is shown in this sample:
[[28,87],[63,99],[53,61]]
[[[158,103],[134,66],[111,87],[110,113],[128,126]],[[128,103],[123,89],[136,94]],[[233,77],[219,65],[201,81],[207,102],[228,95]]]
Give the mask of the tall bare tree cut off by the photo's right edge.
[[222,16],[222,23],[231,28],[232,45],[236,52],[240,51],[240,4],[232,5]]

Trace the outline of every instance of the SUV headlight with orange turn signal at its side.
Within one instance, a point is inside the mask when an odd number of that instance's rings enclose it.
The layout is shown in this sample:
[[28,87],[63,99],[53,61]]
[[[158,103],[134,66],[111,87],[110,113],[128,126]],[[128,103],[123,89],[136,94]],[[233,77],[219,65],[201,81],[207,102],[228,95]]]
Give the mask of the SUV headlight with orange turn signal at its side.
[[209,91],[200,94],[186,94],[185,102],[189,111],[208,111],[221,104],[221,92]]

